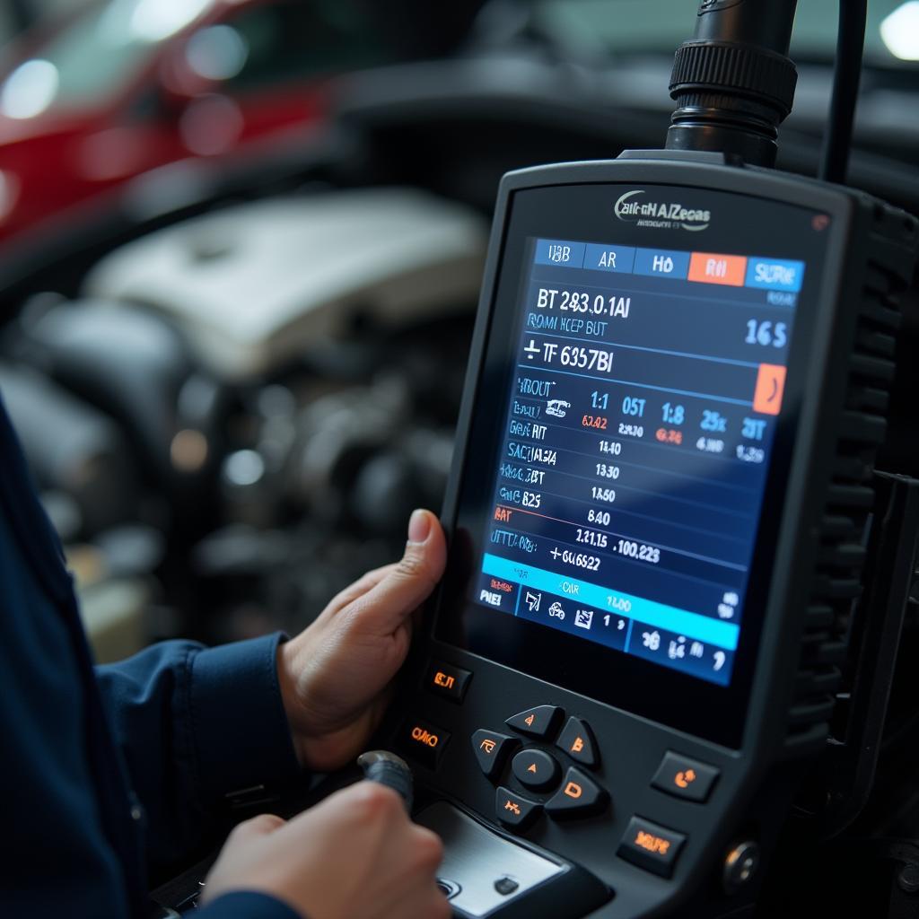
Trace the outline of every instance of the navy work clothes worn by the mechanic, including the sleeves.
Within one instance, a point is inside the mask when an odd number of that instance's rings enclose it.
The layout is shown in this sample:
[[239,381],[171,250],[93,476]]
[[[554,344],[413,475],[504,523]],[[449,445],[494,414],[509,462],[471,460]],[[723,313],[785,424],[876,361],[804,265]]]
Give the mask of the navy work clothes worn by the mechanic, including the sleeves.
[[[59,543],[0,403],[0,916],[147,919],[147,865],[222,797],[296,777],[279,636],[168,641],[94,669]],[[295,919],[261,893],[200,919]]]

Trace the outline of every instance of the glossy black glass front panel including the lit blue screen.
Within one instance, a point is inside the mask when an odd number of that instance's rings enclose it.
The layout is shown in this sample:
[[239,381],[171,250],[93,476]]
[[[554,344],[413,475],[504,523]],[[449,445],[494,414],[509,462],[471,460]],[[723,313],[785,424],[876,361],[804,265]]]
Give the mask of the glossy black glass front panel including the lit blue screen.
[[[516,196],[438,632],[734,743],[826,224],[661,187],[634,190],[633,219],[612,219],[630,214],[622,196]],[[648,200],[709,225],[642,220]],[[635,692],[645,685],[655,693]]]

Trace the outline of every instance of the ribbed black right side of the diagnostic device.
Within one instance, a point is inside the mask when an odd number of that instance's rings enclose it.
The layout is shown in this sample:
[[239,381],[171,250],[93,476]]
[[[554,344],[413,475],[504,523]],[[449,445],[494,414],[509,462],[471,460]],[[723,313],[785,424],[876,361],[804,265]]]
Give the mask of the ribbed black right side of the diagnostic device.
[[866,268],[857,293],[855,335],[789,709],[786,745],[795,750],[825,742],[841,685],[840,668],[850,650],[851,619],[862,594],[875,508],[874,466],[887,434],[901,324],[899,298],[912,278],[919,235],[917,221],[902,210],[867,196],[858,198],[868,232],[853,248],[864,253]]

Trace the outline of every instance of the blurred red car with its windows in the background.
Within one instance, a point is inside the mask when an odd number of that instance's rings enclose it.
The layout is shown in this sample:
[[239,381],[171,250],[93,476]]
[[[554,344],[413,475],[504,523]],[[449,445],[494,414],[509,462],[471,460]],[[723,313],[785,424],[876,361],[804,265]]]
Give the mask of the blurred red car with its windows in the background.
[[159,166],[302,131],[324,76],[391,58],[349,0],[90,3],[0,62],[0,241]]

